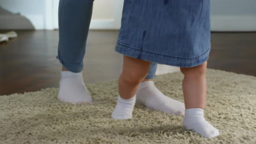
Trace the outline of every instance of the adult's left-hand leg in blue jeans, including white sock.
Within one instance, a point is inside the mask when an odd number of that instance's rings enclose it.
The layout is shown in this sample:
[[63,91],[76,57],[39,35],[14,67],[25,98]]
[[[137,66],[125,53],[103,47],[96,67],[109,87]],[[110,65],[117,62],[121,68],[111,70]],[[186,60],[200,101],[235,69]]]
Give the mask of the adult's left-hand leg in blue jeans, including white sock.
[[86,39],[92,17],[93,0],[59,1],[59,62],[62,63],[58,99],[86,103],[92,98],[82,78]]

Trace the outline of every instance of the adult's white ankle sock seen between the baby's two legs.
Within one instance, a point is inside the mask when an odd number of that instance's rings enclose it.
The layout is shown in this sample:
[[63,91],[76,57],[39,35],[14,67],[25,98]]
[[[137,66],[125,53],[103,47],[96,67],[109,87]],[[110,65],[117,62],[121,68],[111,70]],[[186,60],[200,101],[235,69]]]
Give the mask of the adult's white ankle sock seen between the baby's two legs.
[[153,81],[142,82],[137,92],[136,103],[172,115],[184,115],[185,106],[181,101],[167,97],[155,87]]

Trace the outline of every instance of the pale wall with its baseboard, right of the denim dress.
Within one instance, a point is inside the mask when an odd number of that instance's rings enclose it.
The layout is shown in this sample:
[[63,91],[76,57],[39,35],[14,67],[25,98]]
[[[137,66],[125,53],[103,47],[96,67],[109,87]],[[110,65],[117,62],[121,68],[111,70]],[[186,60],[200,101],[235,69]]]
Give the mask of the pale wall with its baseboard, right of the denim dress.
[[212,31],[256,31],[256,0],[211,0]]

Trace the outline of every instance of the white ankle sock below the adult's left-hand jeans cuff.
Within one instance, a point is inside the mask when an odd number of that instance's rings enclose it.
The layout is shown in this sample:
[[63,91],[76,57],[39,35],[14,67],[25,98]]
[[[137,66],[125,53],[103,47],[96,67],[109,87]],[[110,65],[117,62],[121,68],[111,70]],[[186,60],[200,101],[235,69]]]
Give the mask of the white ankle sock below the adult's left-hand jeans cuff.
[[72,104],[92,103],[91,95],[83,82],[82,72],[61,72],[58,99]]

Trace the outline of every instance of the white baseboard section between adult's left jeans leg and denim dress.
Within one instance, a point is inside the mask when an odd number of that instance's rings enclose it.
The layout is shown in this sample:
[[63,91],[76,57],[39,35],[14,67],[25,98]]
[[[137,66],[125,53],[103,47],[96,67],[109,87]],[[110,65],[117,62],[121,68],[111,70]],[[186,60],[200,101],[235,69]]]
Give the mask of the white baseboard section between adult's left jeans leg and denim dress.
[[[119,24],[120,23],[120,24]],[[111,20],[92,20],[90,29],[120,29],[121,22]]]

